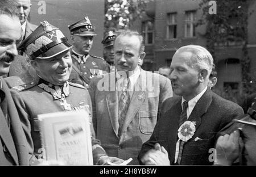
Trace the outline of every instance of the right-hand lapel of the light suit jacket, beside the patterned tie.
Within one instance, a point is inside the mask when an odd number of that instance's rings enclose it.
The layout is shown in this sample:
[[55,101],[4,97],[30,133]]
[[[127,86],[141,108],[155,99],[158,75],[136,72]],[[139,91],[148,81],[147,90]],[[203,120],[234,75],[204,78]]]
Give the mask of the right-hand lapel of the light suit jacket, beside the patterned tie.
[[134,119],[134,116],[137,114],[137,112],[141,108],[141,105],[144,102],[144,99],[146,98],[146,95],[147,95],[147,91],[144,88],[142,88],[142,86],[146,86],[146,85],[147,85],[146,74],[143,70],[141,70],[141,74],[139,75],[139,78],[135,83],[135,87],[139,86],[139,90],[135,89],[133,92],[133,96],[131,96],[129,108],[126,114],[126,119],[125,119],[125,122],[123,123],[121,132],[124,132],[127,129],[128,125],[131,123],[131,121]]

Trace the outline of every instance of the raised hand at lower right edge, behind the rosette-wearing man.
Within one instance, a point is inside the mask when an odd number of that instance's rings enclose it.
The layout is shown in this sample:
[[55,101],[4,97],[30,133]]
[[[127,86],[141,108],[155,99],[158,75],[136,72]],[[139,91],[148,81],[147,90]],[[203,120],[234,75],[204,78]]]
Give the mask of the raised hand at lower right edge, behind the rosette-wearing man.
[[239,130],[233,133],[218,137],[216,143],[217,162],[215,165],[232,165],[240,155],[240,146],[242,138]]

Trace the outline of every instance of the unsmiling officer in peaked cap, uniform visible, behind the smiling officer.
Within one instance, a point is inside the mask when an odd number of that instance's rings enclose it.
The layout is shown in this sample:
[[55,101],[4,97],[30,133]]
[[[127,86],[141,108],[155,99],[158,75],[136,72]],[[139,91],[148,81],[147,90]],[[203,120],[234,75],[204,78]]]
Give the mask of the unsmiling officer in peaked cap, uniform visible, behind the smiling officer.
[[89,54],[93,36],[97,34],[94,32],[94,27],[88,16],[69,25],[68,28],[73,44],[71,51],[73,70],[69,81],[88,87],[93,76],[108,73],[108,66],[103,58]]

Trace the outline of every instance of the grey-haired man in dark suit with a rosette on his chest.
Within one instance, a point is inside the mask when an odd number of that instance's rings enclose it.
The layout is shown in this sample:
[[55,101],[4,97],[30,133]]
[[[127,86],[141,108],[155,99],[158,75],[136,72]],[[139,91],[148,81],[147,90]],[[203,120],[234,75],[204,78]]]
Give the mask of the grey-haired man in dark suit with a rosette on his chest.
[[154,132],[138,159],[145,165],[211,165],[216,134],[243,115],[236,103],[207,87],[213,58],[199,45],[179,48],[172,58],[171,81],[179,95],[163,103]]

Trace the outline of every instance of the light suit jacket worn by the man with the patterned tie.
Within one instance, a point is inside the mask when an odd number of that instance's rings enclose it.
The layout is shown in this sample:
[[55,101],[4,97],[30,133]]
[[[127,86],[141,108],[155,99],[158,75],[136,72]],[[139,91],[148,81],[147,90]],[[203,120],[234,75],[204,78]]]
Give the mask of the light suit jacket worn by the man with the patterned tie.
[[[101,91],[97,85],[101,85],[104,79],[110,83],[104,83],[106,91]],[[141,75],[135,83],[139,89],[131,97],[121,136],[118,136],[118,91],[113,88],[114,85],[115,73],[94,77],[90,83],[96,137],[108,155],[125,160],[131,157],[133,161],[130,164],[138,165],[137,155],[143,142],[153,132],[158,110],[163,101],[172,96],[171,82],[162,75],[141,69]]]

